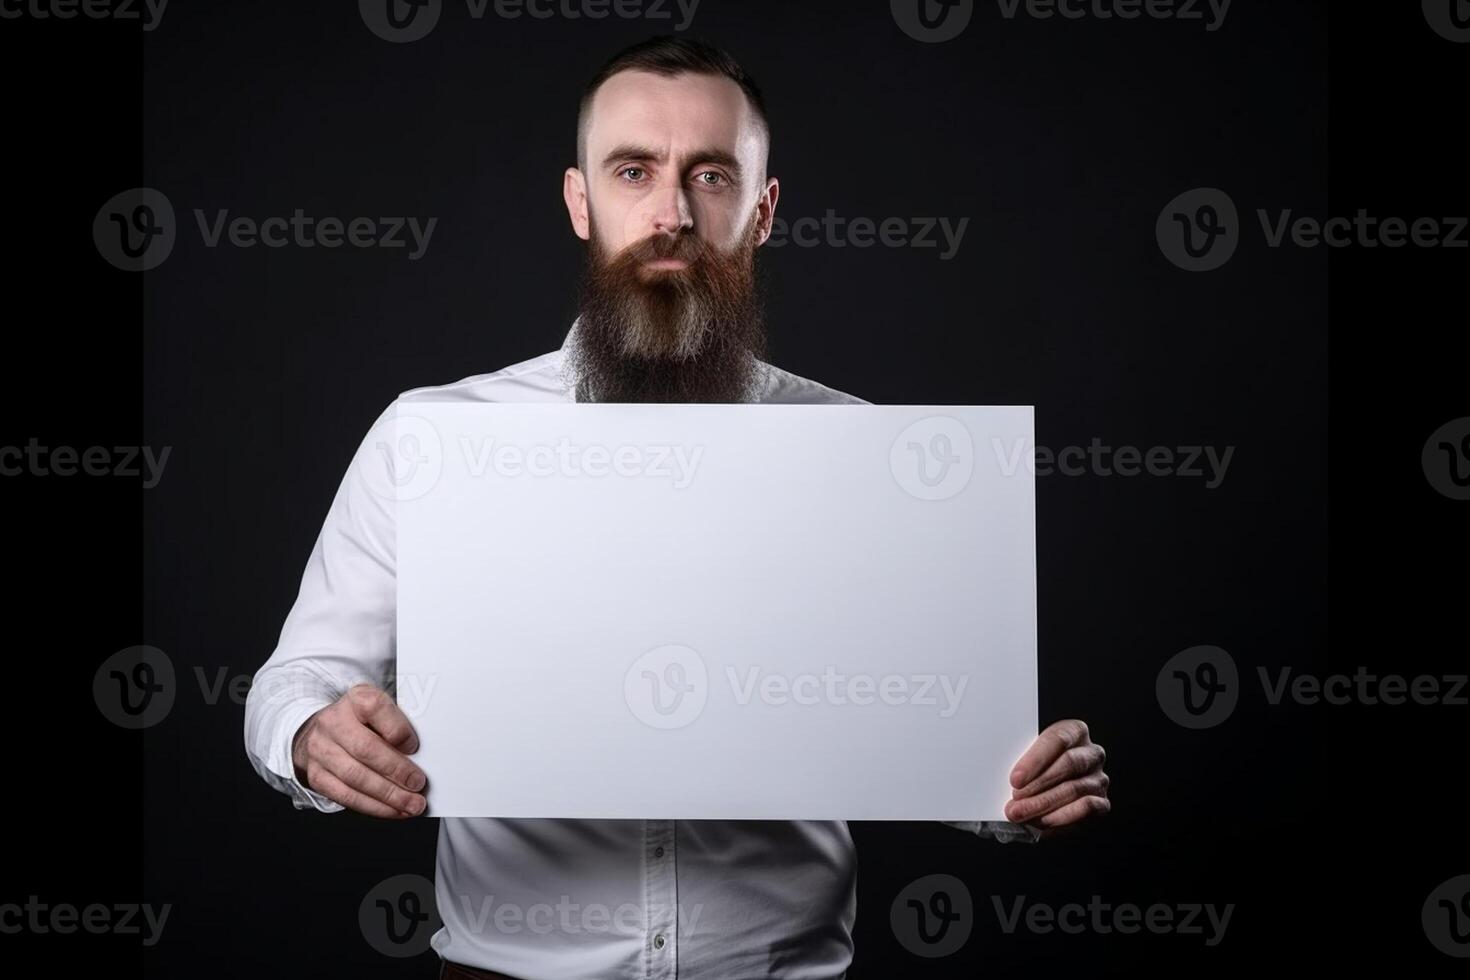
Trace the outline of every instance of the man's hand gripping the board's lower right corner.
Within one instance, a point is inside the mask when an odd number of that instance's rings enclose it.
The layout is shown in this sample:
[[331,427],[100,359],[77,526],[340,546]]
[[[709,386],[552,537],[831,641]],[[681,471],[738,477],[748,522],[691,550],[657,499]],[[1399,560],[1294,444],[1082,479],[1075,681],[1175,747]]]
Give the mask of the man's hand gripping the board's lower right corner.
[[1107,798],[1108,776],[1102,771],[1107,752],[1088,736],[1085,721],[1067,718],[1036,736],[1011,770],[1011,799],[1005,818],[1036,827],[1041,837],[1054,836],[1113,804]]

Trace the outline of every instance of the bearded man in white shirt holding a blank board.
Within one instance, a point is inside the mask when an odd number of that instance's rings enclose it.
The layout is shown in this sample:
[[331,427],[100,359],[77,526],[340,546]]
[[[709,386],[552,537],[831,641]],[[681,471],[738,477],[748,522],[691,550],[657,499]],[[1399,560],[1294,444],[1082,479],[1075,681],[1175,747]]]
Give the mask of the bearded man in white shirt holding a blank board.
[[[587,88],[563,182],[588,241],[563,347],[400,398],[866,404],[761,360],[754,257],[779,190],[769,147],[761,94],[723,51],[654,38],[614,57]],[[373,453],[370,433],[359,460]],[[417,739],[387,693],[394,649],[392,513],[353,466],[245,705],[253,765],[298,808],[425,811]],[[1102,749],[1076,720],[1042,732],[1011,783],[1008,823],[956,826],[1035,840],[1108,810]],[[854,868],[842,821],[445,818],[432,946],[444,977],[841,977]],[[488,896],[637,915],[507,930]]]

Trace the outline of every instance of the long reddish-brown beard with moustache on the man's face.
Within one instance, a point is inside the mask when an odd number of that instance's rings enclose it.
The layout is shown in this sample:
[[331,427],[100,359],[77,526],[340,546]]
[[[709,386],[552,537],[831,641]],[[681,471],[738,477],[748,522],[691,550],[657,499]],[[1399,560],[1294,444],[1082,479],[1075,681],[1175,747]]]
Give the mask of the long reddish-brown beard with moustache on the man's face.
[[[647,269],[682,259],[685,269]],[[747,401],[766,353],[756,220],[725,253],[656,234],[610,259],[591,228],[567,366],[579,401]]]

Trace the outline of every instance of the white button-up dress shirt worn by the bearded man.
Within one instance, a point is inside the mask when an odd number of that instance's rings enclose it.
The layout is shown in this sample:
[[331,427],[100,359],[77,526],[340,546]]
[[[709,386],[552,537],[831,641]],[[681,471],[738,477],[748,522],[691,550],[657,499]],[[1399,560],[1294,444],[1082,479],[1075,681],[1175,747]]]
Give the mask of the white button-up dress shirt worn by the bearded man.
[[[576,401],[564,370],[575,334],[573,322],[562,350],[398,400]],[[757,382],[754,401],[867,404],[764,361]],[[359,453],[373,451],[370,439]],[[392,692],[394,552],[391,505],[354,461],[245,701],[251,765],[300,810],[343,810],[295,779],[301,723],[356,683]],[[1035,839],[1011,823],[951,826]],[[853,958],[857,876],[844,821],[442,818],[437,868],[434,951],[525,980],[829,980]]]

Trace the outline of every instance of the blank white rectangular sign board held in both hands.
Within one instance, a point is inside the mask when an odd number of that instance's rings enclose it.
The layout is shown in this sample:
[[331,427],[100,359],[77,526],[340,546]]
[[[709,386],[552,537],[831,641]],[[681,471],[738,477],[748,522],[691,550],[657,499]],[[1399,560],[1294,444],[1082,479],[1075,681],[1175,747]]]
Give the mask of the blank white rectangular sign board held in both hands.
[[1004,820],[1036,736],[1029,406],[397,411],[432,815]]

